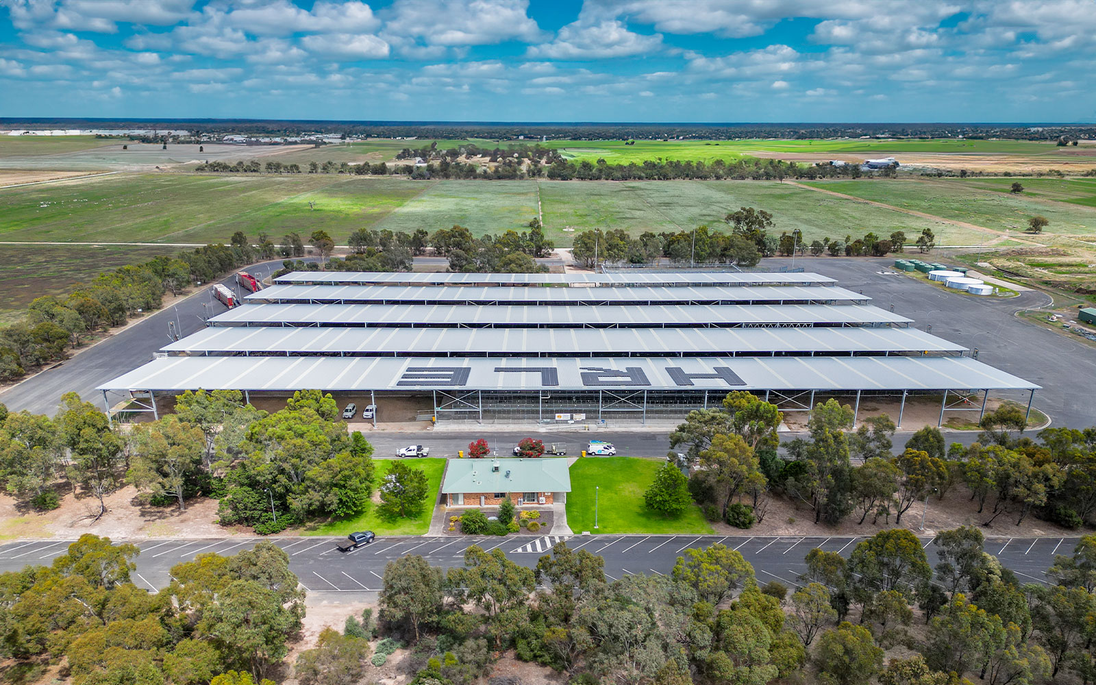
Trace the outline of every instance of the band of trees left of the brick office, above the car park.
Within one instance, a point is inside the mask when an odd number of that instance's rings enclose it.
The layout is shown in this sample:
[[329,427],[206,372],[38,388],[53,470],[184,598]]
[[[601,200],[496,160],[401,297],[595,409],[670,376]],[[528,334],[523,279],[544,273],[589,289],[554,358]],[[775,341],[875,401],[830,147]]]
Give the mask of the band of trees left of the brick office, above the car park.
[[421,513],[430,499],[425,473],[387,463],[378,475],[372,455],[359,432],[346,432],[334,399],[318,390],[295,392],[275,413],[244,403],[238,390],[187,390],[173,414],[128,431],[75,392],[54,419],[0,406],[0,481],[38,510],[82,491],[102,516],[106,498],[133,484],[149,504],[180,511],[192,498],[215,498],[221,525],[263,535],[356,516],[370,506],[374,488],[383,517]]

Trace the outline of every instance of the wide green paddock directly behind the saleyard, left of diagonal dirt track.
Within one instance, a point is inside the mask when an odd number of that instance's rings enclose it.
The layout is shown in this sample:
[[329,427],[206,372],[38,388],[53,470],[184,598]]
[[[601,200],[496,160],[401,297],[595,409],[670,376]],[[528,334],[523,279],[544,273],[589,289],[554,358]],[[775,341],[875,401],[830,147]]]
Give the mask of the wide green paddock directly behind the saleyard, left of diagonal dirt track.
[[[932,199],[947,212],[940,216],[962,216],[975,222],[980,218],[966,216],[961,206],[941,203],[937,194],[927,198],[931,193],[922,182],[845,182],[820,187],[881,193],[883,202],[893,199],[917,208]],[[955,185],[944,187],[955,189],[950,195],[960,205],[969,195]],[[892,189],[898,192],[894,197]],[[481,182],[332,174],[115,174],[0,192],[0,241],[201,243],[227,241],[237,230],[251,237],[264,231],[276,241],[288,231],[307,235],[324,229],[345,244],[357,228],[434,231],[454,224],[483,235],[523,229],[537,216],[538,193],[546,232],[560,247],[570,246],[575,232],[592,228],[623,228],[639,235],[689,230],[700,224],[722,226],[722,217],[741,206],[772,212],[777,235],[798,228],[806,240],[869,230],[887,235],[903,230],[914,236],[926,227],[936,232],[939,244],[981,244],[992,238],[775,181]],[[981,195],[1005,205],[1017,202],[992,191]],[[309,202],[316,203],[315,208]],[[1086,207],[1050,204],[1066,215],[1092,213]],[[1051,219],[1051,230],[1068,226],[1062,216],[1052,216],[1049,209],[1043,214]],[[1074,232],[1083,232],[1075,218],[1073,225]]]

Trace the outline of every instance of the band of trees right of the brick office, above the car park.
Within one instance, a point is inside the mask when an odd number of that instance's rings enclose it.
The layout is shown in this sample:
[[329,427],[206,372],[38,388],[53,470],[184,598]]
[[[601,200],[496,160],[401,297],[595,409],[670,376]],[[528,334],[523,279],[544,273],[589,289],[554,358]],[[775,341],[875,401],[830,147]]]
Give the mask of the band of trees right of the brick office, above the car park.
[[[901,525],[915,503],[943,500],[961,486],[986,526],[998,516],[1019,525],[1029,515],[1066,528],[1096,523],[1094,427],[1043,429],[1032,438],[1023,435],[1023,410],[1003,404],[985,413],[969,447],[947,445],[939,429],[926,426],[895,455],[895,426],[887,414],[853,431],[853,409],[830,399],[810,411],[807,437],[783,444],[776,434],[781,421],[776,406],[735,391],[721,408],[689,412],[670,434],[671,446],[686,449],[694,467],[687,490],[706,517],[747,528],[764,518],[769,498],[781,496],[806,506],[814,523],[854,516],[877,525],[893,516]],[[651,496],[680,502],[683,487],[669,482]]]

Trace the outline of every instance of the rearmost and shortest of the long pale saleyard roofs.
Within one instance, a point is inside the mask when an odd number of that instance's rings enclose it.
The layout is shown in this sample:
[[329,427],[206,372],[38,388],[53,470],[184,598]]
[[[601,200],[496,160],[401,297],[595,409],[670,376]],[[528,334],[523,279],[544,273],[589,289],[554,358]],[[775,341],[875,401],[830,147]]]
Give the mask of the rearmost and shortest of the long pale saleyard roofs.
[[297,271],[275,283],[354,285],[826,285],[834,278],[809,273],[649,272],[616,274],[466,274],[369,271]]

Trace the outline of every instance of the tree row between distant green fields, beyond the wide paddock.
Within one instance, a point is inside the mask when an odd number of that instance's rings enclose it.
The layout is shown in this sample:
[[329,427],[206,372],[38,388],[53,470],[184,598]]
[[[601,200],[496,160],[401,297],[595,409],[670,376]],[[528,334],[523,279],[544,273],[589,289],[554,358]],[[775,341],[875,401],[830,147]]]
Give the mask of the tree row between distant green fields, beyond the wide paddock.
[[[784,179],[859,179],[865,175],[893,176],[893,168],[881,169],[878,172],[865,172],[858,164],[833,165],[801,164],[778,159],[739,159],[723,161],[717,159],[711,163],[703,161],[646,160],[642,163],[610,164],[604,159],[596,162],[583,160],[568,161],[560,158],[555,150],[536,157],[540,150],[535,146],[528,150],[506,150],[505,157],[498,158],[493,167],[481,167],[476,162],[449,161],[442,156],[438,161],[416,164],[351,164],[328,160],[323,163],[309,162],[307,173],[342,173],[352,175],[402,175],[411,179],[479,179],[488,181],[515,179],[550,179],[553,181],[670,181],[681,179],[692,180],[754,180],[783,181]],[[551,159],[545,164],[540,160]],[[530,161],[532,160],[532,161]],[[214,161],[198,164],[194,168],[199,172],[216,173],[304,173],[298,164],[284,164],[278,161],[260,163],[255,160],[238,161],[235,164]]]

